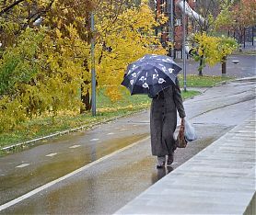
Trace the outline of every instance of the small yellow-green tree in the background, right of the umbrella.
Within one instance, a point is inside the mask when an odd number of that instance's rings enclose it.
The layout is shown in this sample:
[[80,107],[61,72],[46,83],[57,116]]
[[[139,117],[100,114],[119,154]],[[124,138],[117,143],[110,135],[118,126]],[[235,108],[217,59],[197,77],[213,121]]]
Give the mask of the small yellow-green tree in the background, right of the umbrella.
[[195,10],[204,17],[204,21],[193,18],[192,33],[188,41],[193,45],[192,57],[199,62],[199,75],[203,75],[205,63],[214,65],[217,62],[225,62],[227,55],[224,54],[230,54],[237,47],[234,40],[215,36],[215,27],[221,21],[227,21],[224,16],[228,11],[227,6],[227,1],[196,1]]

